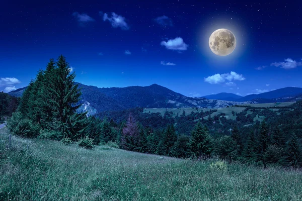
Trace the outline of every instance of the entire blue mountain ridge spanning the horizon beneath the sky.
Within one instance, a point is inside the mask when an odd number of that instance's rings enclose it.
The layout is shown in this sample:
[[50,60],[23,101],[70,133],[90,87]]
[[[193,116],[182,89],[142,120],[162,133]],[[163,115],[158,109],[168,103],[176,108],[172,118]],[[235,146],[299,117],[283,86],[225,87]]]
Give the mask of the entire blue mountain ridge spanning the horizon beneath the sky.
[[[302,88],[286,87],[245,97],[233,93],[218,93],[204,97],[187,97],[158,84],[99,88],[79,84],[82,88],[80,111],[96,114],[101,111],[121,111],[130,108],[223,108],[245,103],[288,102],[302,98]],[[26,87],[11,91],[22,96]],[[299,95],[300,94],[300,95]],[[268,98],[267,98],[268,97]],[[216,98],[216,99],[210,99]],[[220,98],[220,99],[219,99]]]

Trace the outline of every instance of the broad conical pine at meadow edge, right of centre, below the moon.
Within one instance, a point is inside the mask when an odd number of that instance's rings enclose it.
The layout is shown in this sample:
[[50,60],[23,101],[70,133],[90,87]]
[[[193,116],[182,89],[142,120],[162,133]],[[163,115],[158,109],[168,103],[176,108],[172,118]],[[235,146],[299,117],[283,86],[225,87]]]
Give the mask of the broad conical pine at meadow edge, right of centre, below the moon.
[[208,134],[207,128],[202,126],[200,122],[196,124],[191,132],[189,147],[193,157],[208,157],[212,153],[212,139]]

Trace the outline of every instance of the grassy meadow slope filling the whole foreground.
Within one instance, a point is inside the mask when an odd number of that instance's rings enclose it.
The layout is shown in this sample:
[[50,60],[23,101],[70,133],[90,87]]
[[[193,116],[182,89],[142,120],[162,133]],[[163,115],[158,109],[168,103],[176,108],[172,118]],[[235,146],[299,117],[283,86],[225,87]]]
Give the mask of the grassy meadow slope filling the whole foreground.
[[0,129],[0,200],[301,200],[302,172],[12,136]]

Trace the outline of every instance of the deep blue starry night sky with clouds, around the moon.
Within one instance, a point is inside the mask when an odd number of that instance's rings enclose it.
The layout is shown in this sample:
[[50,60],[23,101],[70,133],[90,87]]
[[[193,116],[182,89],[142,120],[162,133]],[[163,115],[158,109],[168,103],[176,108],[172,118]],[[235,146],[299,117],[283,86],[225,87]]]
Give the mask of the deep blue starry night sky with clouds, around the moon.
[[[26,86],[60,54],[76,81],[98,87],[157,83],[188,96],[302,87],[301,19],[298,1],[5,1],[0,90]],[[237,39],[225,57],[208,46],[220,28]]]

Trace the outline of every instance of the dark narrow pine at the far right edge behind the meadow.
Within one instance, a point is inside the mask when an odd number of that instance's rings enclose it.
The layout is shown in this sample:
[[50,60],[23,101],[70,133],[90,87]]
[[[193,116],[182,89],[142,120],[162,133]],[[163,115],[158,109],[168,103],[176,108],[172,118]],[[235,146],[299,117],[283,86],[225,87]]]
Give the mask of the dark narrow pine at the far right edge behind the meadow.
[[298,144],[298,139],[295,134],[292,134],[286,143],[285,148],[285,163],[288,166],[298,167],[302,164],[301,147]]

